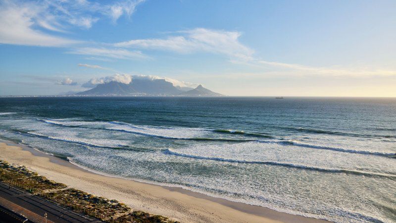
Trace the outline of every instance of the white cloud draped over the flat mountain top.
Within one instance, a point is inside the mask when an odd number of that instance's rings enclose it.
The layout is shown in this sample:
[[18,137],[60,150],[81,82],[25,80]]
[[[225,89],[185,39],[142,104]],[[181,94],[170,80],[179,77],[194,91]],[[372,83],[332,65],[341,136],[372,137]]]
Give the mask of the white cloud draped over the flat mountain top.
[[173,86],[175,86],[175,87],[195,88],[198,86],[198,84],[175,80],[175,79],[171,79],[171,78],[167,78],[167,77],[159,77],[159,76],[152,76],[152,75],[129,75],[129,74],[115,74],[113,76],[92,78],[87,83],[84,83],[81,86],[85,87],[85,88],[93,88],[93,87],[96,87],[98,84],[109,83],[112,81],[123,83],[123,84],[129,84],[134,79],[146,79],[146,80],[158,80],[158,79],[162,80],[162,79],[164,79],[165,81],[172,83]]

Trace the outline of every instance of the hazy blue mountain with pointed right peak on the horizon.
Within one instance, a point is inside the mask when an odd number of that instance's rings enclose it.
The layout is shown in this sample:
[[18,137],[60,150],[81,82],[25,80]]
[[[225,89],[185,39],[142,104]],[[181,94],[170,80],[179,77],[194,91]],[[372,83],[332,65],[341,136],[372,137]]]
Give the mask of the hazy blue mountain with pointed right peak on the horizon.
[[78,96],[180,96],[219,97],[222,94],[199,85],[197,88],[174,86],[165,79],[133,79],[129,84],[110,81],[88,91],[75,93]]

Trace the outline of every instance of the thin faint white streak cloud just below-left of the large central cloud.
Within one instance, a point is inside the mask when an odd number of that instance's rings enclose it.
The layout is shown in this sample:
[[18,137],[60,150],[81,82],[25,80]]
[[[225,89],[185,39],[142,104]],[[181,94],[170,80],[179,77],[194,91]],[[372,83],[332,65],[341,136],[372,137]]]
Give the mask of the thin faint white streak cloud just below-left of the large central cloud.
[[110,57],[116,59],[147,59],[148,56],[142,54],[140,51],[128,51],[125,49],[109,49],[109,48],[76,48],[67,52],[68,54],[89,55],[99,57]]

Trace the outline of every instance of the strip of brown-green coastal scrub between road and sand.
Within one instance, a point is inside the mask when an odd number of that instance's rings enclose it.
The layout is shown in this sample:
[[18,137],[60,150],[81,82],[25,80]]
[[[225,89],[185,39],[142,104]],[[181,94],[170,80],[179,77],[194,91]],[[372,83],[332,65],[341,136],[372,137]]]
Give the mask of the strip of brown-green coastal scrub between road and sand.
[[78,213],[111,223],[176,223],[166,217],[132,210],[127,205],[49,180],[24,166],[0,160],[0,180]]

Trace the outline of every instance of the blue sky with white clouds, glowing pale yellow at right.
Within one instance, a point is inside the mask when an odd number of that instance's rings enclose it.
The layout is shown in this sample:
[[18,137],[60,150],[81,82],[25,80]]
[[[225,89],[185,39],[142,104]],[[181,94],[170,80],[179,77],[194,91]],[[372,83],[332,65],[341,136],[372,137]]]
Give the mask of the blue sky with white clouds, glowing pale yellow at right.
[[0,0],[0,95],[130,75],[229,96],[396,97],[395,0]]

